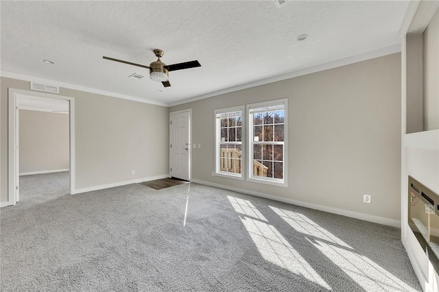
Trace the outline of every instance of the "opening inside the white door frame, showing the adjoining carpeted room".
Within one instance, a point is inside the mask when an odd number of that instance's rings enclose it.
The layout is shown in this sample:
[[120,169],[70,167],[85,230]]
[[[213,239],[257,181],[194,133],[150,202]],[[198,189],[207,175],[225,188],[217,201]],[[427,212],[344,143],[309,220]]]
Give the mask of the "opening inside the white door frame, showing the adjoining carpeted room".
[[20,202],[69,193],[69,101],[19,95]]

